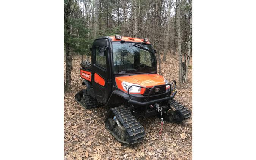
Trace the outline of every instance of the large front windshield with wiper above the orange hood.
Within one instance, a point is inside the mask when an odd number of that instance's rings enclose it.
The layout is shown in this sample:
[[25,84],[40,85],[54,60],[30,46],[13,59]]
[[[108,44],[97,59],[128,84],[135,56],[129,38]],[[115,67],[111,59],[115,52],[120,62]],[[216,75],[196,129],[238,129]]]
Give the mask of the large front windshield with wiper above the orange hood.
[[115,74],[156,71],[152,45],[127,42],[113,42],[112,44]]

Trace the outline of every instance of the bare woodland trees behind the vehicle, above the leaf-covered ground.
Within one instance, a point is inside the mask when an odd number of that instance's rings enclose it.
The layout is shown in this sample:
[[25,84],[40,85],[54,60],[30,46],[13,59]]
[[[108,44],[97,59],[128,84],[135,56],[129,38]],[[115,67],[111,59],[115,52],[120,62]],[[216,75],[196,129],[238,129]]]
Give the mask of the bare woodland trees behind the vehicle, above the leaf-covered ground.
[[[179,83],[187,82],[192,57],[192,0],[64,0],[64,88],[71,88],[72,57],[90,60],[90,47],[101,36],[149,38],[161,61],[179,60]],[[163,55],[163,58],[161,58]]]

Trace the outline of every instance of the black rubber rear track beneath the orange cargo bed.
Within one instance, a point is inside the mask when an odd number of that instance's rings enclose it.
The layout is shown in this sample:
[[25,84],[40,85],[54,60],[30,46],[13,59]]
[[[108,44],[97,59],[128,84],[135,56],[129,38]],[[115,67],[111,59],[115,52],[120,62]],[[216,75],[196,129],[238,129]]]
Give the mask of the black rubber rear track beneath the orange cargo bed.
[[79,101],[79,104],[81,104],[83,106],[83,108],[91,109],[91,108],[96,108],[96,107],[99,107],[100,105],[102,105],[96,99],[91,97],[87,93],[86,89],[83,89],[82,91],[83,91],[83,98]]

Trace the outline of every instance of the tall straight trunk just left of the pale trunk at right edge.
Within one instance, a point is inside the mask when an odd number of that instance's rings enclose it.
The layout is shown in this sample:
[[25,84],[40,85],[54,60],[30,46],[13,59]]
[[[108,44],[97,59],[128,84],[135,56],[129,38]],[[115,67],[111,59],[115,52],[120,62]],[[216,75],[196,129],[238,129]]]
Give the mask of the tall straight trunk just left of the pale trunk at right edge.
[[178,27],[178,49],[179,49],[179,83],[183,83],[182,76],[182,52],[181,52],[181,18],[180,18],[180,0],[177,0],[177,27]]

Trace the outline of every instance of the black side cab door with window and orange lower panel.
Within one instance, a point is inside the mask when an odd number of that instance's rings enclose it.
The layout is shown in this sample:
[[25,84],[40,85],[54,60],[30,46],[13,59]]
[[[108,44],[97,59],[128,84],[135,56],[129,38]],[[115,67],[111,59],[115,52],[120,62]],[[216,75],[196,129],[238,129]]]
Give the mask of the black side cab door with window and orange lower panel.
[[[111,92],[112,77],[110,67],[110,47],[108,39],[97,39],[92,47],[92,74],[94,97],[106,103]],[[100,54],[100,49],[104,50],[104,55]]]

